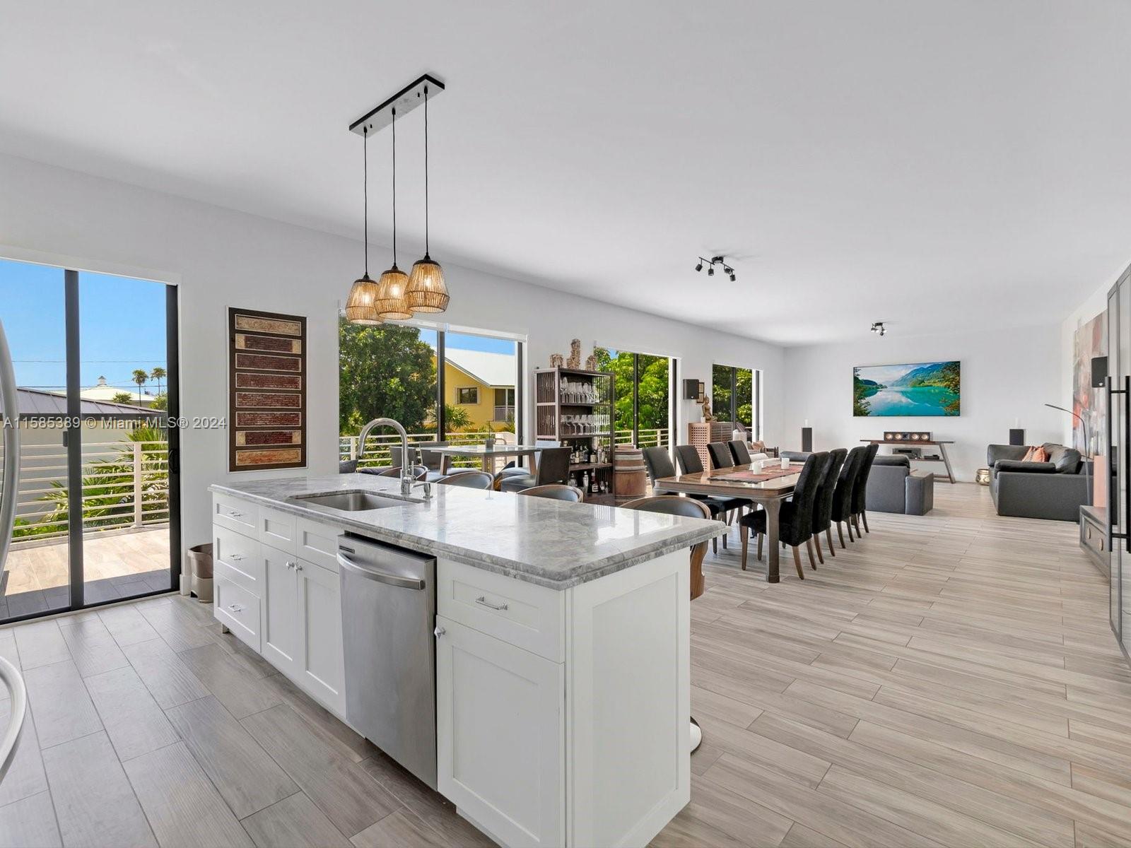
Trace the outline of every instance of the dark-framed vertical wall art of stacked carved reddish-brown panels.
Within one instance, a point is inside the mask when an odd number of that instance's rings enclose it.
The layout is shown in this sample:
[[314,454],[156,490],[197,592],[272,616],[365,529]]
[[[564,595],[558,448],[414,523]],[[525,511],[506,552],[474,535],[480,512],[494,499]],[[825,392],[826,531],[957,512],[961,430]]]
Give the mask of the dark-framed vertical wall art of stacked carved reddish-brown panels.
[[307,319],[228,309],[230,471],[307,465]]

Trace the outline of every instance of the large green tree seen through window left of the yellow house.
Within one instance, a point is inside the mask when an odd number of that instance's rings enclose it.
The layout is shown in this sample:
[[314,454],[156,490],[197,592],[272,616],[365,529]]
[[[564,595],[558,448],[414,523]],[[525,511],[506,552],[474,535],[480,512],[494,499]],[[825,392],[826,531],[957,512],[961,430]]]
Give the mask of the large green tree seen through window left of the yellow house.
[[365,422],[381,416],[396,418],[409,433],[434,418],[435,360],[415,327],[373,327],[342,318],[338,362],[342,435],[356,435]]

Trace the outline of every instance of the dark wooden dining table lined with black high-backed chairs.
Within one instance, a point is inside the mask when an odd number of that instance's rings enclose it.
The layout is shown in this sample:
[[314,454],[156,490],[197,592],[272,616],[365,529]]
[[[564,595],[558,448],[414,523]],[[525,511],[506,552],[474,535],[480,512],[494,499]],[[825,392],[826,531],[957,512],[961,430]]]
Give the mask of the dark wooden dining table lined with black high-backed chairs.
[[661,477],[655,483],[656,492],[676,494],[700,494],[715,497],[742,497],[761,505],[766,510],[766,536],[768,539],[766,582],[782,581],[778,571],[780,543],[778,537],[778,514],[782,503],[797,485],[801,465],[791,464],[782,468],[777,462],[754,469],[753,465],[737,465],[729,468],[713,468],[692,474]]

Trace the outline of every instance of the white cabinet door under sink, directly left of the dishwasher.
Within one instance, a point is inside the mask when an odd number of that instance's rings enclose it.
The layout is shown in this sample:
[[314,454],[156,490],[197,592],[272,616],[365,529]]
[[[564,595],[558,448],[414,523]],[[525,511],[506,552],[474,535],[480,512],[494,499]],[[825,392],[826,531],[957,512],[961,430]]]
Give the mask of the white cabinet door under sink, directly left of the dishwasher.
[[345,658],[342,651],[342,590],[338,576],[299,560],[299,643],[295,676],[300,686],[338,716],[345,715]]

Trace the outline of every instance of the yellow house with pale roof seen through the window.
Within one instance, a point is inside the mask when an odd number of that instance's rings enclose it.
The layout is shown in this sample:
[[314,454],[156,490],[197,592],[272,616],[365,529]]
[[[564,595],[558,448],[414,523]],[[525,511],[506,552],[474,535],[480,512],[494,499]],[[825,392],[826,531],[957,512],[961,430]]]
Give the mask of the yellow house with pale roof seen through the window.
[[513,421],[513,356],[448,348],[444,358],[446,406],[465,410],[476,429],[490,425],[498,430],[508,421]]

